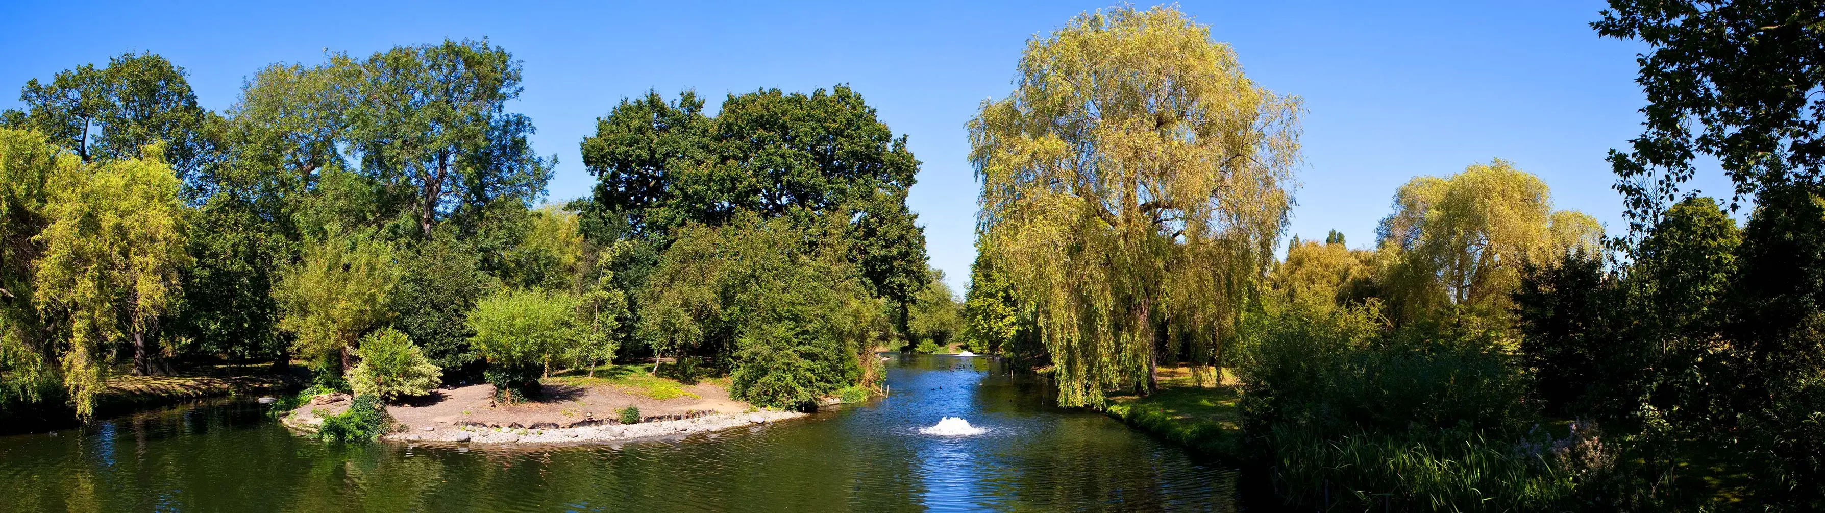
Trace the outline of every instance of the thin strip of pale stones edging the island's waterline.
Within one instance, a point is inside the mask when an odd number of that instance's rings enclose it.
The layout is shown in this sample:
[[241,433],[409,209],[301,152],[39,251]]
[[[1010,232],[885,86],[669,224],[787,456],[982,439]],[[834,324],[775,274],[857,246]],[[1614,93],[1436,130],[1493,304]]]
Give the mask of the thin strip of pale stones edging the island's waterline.
[[588,425],[555,429],[507,429],[473,425],[427,425],[431,431],[403,431],[387,434],[387,440],[405,442],[471,442],[471,444],[571,444],[571,442],[610,442],[633,438],[677,436],[692,433],[723,431],[743,425],[779,422],[798,418],[803,413],[763,409],[756,413],[721,413],[684,420],[664,420],[626,425]]

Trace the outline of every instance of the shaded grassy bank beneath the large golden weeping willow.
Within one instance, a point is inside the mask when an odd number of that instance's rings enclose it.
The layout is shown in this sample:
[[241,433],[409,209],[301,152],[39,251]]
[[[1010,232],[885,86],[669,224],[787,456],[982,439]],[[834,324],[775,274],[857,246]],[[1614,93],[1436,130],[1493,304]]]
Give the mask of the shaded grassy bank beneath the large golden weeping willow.
[[1208,367],[1197,371],[1161,367],[1159,391],[1110,396],[1104,413],[1199,453],[1236,456],[1241,438],[1236,383]]

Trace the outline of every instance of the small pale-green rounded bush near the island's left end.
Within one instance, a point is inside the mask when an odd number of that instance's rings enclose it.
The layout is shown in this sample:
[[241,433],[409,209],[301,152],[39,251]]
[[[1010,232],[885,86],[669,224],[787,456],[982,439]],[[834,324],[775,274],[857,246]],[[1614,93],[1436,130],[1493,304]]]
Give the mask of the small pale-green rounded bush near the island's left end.
[[361,363],[349,371],[349,385],[356,396],[372,394],[381,400],[422,396],[436,389],[443,376],[411,338],[394,329],[363,336],[354,354],[361,358]]

